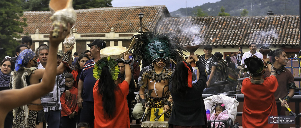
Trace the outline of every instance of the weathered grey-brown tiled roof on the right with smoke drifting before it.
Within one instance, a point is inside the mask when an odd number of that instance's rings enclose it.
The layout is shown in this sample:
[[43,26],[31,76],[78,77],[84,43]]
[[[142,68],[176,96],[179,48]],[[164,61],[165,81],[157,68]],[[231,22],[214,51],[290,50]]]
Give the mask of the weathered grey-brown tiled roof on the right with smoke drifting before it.
[[299,45],[299,15],[166,17],[160,30],[178,34],[182,45]]

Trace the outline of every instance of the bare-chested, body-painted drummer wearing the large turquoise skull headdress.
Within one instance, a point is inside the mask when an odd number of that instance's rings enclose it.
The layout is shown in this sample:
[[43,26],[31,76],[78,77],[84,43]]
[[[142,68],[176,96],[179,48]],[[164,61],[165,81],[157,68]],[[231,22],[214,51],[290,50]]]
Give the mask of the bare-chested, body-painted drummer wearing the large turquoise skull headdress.
[[[168,81],[172,71],[165,69],[163,65],[167,58],[174,62],[183,61],[182,51],[184,49],[179,45],[178,38],[174,33],[146,31],[141,35],[132,37],[137,39],[133,46],[133,59],[139,64],[142,59],[150,60],[153,64],[153,69],[146,70],[141,77],[139,95],[144,107],[161,109],[160,111],[163,108],[165,110],[164,118],[167,121],[171,113],[169,107],[172,97],[169,92]],[[148,96],[144,94],[146,88],[148,89]]]

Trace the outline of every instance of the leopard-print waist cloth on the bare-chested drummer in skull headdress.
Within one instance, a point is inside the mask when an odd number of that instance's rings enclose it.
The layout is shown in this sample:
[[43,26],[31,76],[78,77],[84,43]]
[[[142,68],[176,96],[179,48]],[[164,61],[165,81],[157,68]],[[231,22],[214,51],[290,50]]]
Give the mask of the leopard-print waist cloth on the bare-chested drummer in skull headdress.
[[[165,105],[165,102],[168,101],[168,98],[169,98],[169,95],[160,97],[160,98],[148,96],[147,101],[150,101],[150,103],[148,104],[150,108],[163,108]],[[151,109],[148,109],[148,111],[150,111],[150,110]],[[166,113],[164,113],[164,117],[169,118],[171,111],[172,111],[172,106],[170,106],[169,110]]]

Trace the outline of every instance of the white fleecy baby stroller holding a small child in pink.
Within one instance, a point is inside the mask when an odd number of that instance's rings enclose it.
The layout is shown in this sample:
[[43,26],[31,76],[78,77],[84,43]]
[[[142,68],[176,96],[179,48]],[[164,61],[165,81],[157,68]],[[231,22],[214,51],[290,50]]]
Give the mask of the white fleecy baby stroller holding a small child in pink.
[[[237,95],[235,94],[211,94],[207,98],[204,99],[206,110],[210,110],[210,115],[213,114],[213,106],[216,104],[225,104],[225,108],[227,109],[229,119],[228,120],[216,120],[215,122],[222,122],[225,124],[225,128],[229,128],[233,126],[233,120],[236,118],[237,114],[237,106],[239,102],[236,100]],[[212,109],[211,109],[212,108]],[[213,122],[211,120],[210,122]],[[211,123],[210,123],[211,125]]]

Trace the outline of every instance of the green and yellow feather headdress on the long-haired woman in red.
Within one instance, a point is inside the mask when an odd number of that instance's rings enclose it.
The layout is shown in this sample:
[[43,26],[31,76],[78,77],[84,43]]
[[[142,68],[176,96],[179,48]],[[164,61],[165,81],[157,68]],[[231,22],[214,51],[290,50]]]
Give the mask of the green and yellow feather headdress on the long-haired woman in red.
[[96,80],[99,79],[102,67],[108,66],[113,80],[117,80],[119,68],[115,59],[111,57],[103,57],[98,60],[93,69],[93,76]]

